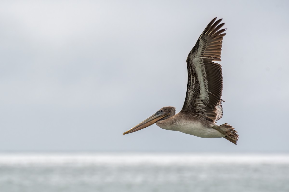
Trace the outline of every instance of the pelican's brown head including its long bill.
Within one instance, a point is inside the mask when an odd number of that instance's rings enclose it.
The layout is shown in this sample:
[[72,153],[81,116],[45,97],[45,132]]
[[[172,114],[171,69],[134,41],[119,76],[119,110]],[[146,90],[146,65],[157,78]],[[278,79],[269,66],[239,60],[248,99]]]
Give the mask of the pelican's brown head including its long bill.
[[162,109],[158,110],[155,114],[153,114],[151,117],[142,121],[138,125],[131,128],[130,130],[124,132],[123,135],[136,132],[138,130],[151,126],[153,123],[156,123],[157,121],[161,121],[164,119],[168,119],[169,117],[172,117],[175,114],[176,114],[175,107],[163,107]]

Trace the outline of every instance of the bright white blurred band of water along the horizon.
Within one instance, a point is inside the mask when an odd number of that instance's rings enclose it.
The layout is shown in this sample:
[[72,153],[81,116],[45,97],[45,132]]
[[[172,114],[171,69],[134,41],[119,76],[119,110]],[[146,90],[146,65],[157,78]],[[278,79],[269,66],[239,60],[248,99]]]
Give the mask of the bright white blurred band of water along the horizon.
[[125,165],[153,164],[196,165],[196,164],[289,164],[289,154],[157,154],[157,153],[2,153],[0,165],[65,165],[97,164]]

